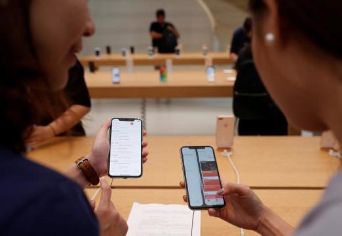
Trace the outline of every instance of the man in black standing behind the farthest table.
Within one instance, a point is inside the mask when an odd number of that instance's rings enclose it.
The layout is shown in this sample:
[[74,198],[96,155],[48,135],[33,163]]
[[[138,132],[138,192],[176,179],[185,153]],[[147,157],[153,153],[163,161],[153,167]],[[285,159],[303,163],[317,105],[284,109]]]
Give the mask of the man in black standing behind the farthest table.
[[157,21],[150,24],[152,46],[157,47],[159,53],[174,53],[175,47],[178,45],[178,30],[171,22],[165,21],[163,9],[156,11],[156,18]]

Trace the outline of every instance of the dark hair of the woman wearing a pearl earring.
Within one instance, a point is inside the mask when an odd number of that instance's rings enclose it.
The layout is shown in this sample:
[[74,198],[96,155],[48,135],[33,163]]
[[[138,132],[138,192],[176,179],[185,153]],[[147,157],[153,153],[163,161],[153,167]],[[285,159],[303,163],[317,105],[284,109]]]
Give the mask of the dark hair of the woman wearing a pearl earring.
[[[342,58],[341,0],[277,0],[280,32],[297,31],[304,37]],[[249,0],[255,14],[265,9],[263,0]]]

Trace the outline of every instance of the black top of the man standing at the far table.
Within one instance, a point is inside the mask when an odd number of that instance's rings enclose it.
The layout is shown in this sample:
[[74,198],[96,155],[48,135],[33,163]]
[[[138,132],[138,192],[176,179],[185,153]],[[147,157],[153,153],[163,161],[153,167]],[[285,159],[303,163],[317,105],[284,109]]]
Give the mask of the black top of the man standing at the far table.
[[[175,35],[167,29],[168,25],[174,28],[171,22],[165,22],[164,25],[161,25],[158,21],[154,21],[150,24],[150,32],[154,31],[164,36],[162,39],[152,39],[152,46],[157,47],[159,53],[174,53],[174,47],[177,45]],[[167,42],[169,38],[171,42]]]

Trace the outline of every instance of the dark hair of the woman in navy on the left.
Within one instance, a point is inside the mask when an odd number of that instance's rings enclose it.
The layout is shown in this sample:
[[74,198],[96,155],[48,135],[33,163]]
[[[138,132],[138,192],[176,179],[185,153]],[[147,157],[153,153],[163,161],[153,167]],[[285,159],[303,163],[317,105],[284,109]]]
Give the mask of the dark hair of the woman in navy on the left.
[[33,46],[30,5],[31,0],[0,1],[0,146],[20,152],[33,125],[52,113],[50,101],[58,100]]

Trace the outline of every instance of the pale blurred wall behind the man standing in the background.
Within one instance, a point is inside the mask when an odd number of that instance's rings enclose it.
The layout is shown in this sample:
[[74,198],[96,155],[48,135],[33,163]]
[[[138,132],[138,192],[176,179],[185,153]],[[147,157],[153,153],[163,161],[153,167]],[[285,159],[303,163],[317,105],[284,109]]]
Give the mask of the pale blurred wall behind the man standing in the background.
[[114,52],[130,45],[137,52],[146,52],[151,42],[150,22],[155,20],[158,8],[166,10],[167,21],[179,30],[179,43],[185,51],[199,51],[203,43],[211,50],[224,51],[235,28],[247,16],[243,2],[246,0],[89,0],[96,34],[85,40],[80,55],[93,53],[94,47],[104,50],[107,44]]

